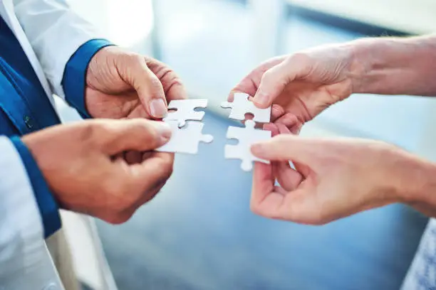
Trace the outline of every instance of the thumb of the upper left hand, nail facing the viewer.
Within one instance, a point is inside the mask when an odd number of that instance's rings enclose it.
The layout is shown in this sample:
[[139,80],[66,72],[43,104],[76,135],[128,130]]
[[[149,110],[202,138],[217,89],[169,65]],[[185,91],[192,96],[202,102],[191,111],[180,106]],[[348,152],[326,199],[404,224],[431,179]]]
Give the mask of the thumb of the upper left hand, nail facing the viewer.
[[162,82],[148,68],[145,58],[141,55],[133,58],[129,66],[130,73],[126,81],[135,88],[147,113],[155,119],[165,117],[168,109]]

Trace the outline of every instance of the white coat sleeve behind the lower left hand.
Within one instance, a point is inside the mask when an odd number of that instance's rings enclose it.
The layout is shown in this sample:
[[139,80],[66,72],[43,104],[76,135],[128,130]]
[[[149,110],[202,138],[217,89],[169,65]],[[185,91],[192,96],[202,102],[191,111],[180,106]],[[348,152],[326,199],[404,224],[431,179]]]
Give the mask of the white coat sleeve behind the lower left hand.
[[5,136],[0,154],[0,289],[63,289],[26,168]]

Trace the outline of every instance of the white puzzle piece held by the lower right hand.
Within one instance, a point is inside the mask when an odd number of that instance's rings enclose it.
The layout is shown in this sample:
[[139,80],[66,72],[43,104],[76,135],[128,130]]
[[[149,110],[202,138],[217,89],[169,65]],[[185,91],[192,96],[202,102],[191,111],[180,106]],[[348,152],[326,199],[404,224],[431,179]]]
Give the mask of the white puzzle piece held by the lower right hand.
[[241,159],[241,168],[244,171],[251,171],[253,161],[269,164],[269,161],[259,159],[251,154],[251,144],[271,139],[271,131],[255,129],[255,124],[254,121],[247,120],[245,122],[245,128],[229,127],[227,131],[227,139],[237,139],[239,143],[237,145],[227,144],[224,147],[224,157],[226,159]]

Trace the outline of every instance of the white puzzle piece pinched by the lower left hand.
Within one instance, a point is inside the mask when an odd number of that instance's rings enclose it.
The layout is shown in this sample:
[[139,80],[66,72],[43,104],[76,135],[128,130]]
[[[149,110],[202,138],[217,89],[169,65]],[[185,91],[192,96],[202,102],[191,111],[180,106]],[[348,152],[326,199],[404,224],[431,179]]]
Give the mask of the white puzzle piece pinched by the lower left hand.
[[202,134],[204,124],[201,122],[187,122],[183,128],[179,127],[177,120],[166,121],[166,123],[171,127],[171,139],[156,151],[197,154],[199,142],[210,143],[214,140],[212,135]]

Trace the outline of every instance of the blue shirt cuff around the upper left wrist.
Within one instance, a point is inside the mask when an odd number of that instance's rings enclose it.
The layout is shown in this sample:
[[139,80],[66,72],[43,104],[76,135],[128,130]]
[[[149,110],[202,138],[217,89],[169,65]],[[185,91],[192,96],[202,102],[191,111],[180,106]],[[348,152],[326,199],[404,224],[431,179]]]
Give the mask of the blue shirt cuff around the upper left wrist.
[[66,64],[62,86],[68,104],[76,108],[84,119],[90,118],[85,106],[86,71],[95,53],[101,48],[113,45],[105,39],[93,39],[81,45]]

